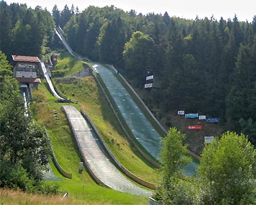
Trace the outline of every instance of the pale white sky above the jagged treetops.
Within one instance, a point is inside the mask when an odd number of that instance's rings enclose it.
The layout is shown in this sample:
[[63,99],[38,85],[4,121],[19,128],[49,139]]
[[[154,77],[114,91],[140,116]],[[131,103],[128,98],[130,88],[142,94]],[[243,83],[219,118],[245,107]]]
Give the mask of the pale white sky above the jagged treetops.
[[49,11],[53,10],[56,4],[61,11],[67,5],[69,9],[73,4],[78,7],[79,11],[83,11],[89,5],[104,7],[106,5],[114,5],[124,11],[135,10],[137,14],[142,13],[162,13],[166,11],[170,16],[183,17],[185,19],[195,19],[199,17],[214,17],[219,20],[220,17],[224,19],[233,19],[234,15],[238,17],[239,21],[252,22],[256,15],[256,1],[255,0],[5,0],[7,4],[10,3],[26,3],[28,7],[41,6],[46,7]]

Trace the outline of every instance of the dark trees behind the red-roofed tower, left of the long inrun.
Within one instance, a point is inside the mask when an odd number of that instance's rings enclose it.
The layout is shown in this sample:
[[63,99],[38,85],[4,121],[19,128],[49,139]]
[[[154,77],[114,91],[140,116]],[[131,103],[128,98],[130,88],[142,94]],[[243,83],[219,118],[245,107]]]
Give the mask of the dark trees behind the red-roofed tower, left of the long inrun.
[[0,1],[0,50],[7,55],[40,56],[54,43],[55,22],[41,7]]

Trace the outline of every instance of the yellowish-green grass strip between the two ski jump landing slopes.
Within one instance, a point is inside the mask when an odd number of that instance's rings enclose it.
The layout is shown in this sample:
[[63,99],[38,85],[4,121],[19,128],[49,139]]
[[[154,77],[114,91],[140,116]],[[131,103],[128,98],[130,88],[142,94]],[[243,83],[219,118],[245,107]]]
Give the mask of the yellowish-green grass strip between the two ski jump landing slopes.
[[110,151],[129,171],[146,181],[156,182],[156,170],[141,160],[143,157],[131,147],[93,77],[57,79],[56,85],[65,95],[78,101],[79,106],[94,122]]

